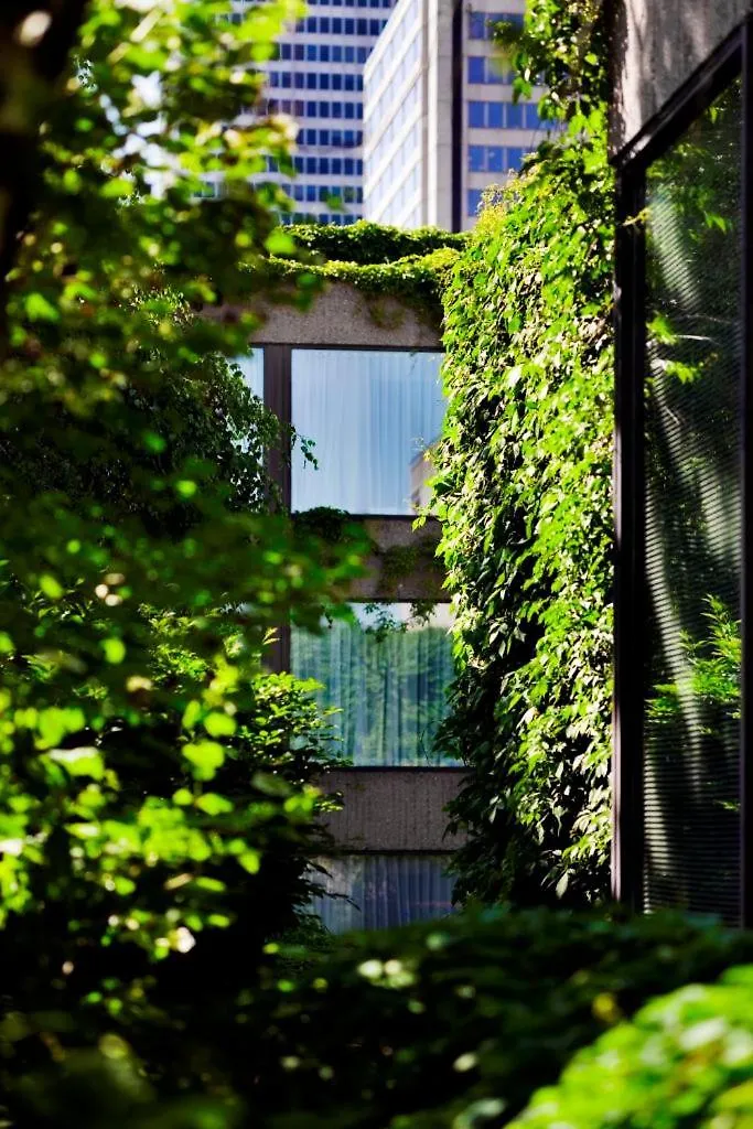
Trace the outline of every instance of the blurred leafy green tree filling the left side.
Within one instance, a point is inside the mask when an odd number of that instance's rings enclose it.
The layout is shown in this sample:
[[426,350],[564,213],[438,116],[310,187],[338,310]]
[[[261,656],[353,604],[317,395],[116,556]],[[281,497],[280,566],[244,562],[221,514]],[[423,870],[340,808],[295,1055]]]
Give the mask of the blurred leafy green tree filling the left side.
[[[9,277],[0,1018],[20,1035],[2,1027],[0,1069],[18,1124],[53,1115],[24,1112],[29,1071],[62,1085],[115,1026],[163,1088],[207,1088],[201,1048],[230,1039],[322,847],[326,725],[264,657],[286,618],[338,614],[358,558],[265,511],[278,426],[226,362],[256,324],[254,265],[289,247],[277,190],[248,184],[289,138],[222,123],[298,8],[227,11],[89,6]],[[227,195],[201,202],[218,173]],[[201,314],[220,298],[231,313]]]

